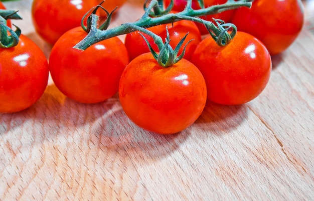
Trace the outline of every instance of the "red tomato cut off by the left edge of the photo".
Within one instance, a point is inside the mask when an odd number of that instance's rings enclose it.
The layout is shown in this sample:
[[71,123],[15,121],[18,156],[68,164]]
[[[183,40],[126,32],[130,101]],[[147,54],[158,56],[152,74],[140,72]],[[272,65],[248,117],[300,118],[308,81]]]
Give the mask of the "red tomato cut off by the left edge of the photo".
[[19,112],[32,106],[48,83],[48,62],[41,49],[26,36],[19,44],[0,48],[0,112]]

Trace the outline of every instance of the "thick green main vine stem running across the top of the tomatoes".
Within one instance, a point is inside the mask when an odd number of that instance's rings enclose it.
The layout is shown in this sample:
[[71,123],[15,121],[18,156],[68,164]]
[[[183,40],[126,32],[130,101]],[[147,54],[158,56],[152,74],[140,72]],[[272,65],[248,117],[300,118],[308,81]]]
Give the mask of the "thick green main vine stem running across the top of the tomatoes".
[[[231,38],[228,36],[228,29],[227,31],[222,31],[219,29],[220,26],[214,25],[212,22],[202,20],[199,17],[200,16],[205,16],[205,15],[211,15],[211,14],[216,14],[220,13],[226,10],[232,10],[232,9],[237,9],[240,7],[251,7],[253,0],[228,0],[225,4],[222,5],[216,5],[216,6],[211,6],[205,9],[200,9],[200,10],[194,10],[192,9],[192,0],[188,0],[187,2],[187,7],[184,11],[173,14],[165,14],[161,15],[158,17],[150,17],[150,12],[153,10],[154,7],[159,6],[159,2],[157,0],[152,0],[148,7],[145,10],[145,13],[143,16],[136,22],[133,23],[125,23],[121,24],[120,26],[114,27],[112,29],[108,30],[98,30],[97,25],[95,23],[94,27],[91,28],[91,31],[88,33],[88,35],[80,41],[78,44],[76,44],[73,48],[79,49],[79,50],[86,50],[88,47],[91,45],[98,43],[100,41],[119,36],[119,35],[124,35],[128,34],[131,32],[139,31],[138,28],[149,28],[161,24],[170,24],[174,23],[177,21],[181,20],[189,20],[189,21],[194,21],[198,23],[203,23],[207,29],[209,30],[209,33],[216,39],[221,42],[219,45],[227,45],[230,42],[230,39],[233,38],[235,35],[236,30],[234,30],[231,33]],[[92,18],[95,15],[91,15]],[[98,18],[97,18],[98,19]],[[225,25],[224,25],[225,26]],[[223,27],[224,27],[223,26]],[[229,27],[232,27],[231,24],[228,24]],[[232,27],[235,28],[235,27]],[[223,33],[223,35],[221,35]]]

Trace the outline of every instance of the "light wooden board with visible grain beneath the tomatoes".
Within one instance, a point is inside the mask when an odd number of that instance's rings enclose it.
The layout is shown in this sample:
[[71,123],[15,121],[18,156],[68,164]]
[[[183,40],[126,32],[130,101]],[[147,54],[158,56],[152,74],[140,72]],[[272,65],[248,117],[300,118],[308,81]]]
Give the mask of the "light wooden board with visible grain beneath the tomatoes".
[[[129,0],[111,26],[139,18],[142,4]],[[0,114],[0,200],[314,200],[314,1],[303,4],[304,29],[272,58],[262,94],[208,103],[175,135],[135,126],[117,95],[80,104],[50,80],[34,106]],[[5,5],[48,57],[31,0]]]

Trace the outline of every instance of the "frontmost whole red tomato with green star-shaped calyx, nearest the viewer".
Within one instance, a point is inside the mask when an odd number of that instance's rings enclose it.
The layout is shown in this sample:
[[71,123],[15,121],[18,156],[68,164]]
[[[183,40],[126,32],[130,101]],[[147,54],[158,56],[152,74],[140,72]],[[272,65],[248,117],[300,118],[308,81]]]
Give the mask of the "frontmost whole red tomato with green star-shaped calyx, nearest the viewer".
[[184,130],[201,115],[206,84],[188,60],[165,68],[145,53],[125,68],[119,98],[125,114],[136,125],[155,133],[172,134]]

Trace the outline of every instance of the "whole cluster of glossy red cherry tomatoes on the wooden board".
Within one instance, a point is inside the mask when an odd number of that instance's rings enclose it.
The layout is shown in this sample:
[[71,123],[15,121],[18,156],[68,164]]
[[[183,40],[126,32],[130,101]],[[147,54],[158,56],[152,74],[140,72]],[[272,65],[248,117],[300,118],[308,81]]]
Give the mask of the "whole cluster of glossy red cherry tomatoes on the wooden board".
[[[180,55],[185,48],[184,58],[162,67],[146,43],[159,52],[154,40],[138,31],[126,34],[124,42],[113,37],[84,51],[73,48],[87,36],[80,27],[82,17],[100,2],[34,0],[34,27],[53,45],[49,64],[41,50],[23,35],[18,46],[0,49],[0,98],[5,100],[0,103],[0,112],[17,112],[34,104],[44,93],[49,70],[54,84],[68,98],[99,103],[118,92],[125,114],[136,125],[161,134],[177,133],[196,121],[207,100],[236,105],[256,98],[270,78],[270,55],[288,48],[303,25],[299,0],[255,0],[251,9],[201,17],[222,19],[238,27],[227,46],[217,45],[212,36],[202,37],[208,30],[192,21],[147,28],[170,40],[173,49],[187,37],[179,51]],[[226,2],[205,0],[204,6]],[[113,10],[113,5],[124,3],[110,4],[108,0],[103,6]],[[168,6],[170,0],[164,3]],[[197,0],[192,3],[193,9],[201,9]],[[172,12],[185,6],[185,0],[175,0]],[[281,9],[273,14],[273,8]],[[283,13],[284,20],[280,19]]]

